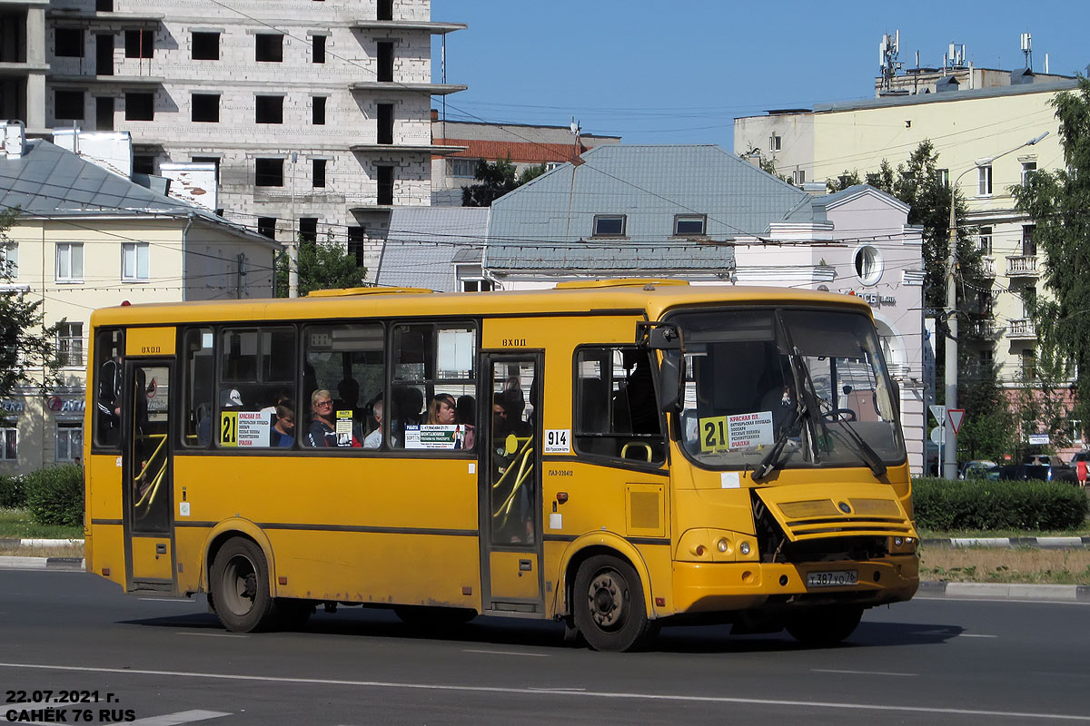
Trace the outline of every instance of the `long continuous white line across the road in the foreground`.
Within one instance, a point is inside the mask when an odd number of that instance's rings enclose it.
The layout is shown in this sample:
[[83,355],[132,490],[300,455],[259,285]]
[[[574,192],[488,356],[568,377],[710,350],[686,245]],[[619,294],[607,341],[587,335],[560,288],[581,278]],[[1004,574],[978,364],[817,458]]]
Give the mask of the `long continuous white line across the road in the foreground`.
[[[352,686],[355,688],[400,688],[404,690],[448,691],[452,693],[504,693],[506,696],[526,694],[524,687],[504,686],[443,686],[439,684],[412,684],[383,680],[342,680],[337,678],[288,678],[284,676],[242,676],[230,673],[197,673],[189,670],[145,670],[138,668],[96,668],[85,665],[45,665],[40,663],[0,663],[0,668],[26,668],[38,670],[62,670],[69,673],[116,673],[126,676],[172,676],[179,678],[207,678],[210,680],[244,680],[266,684],[299,684],[305,686]],[[25,675],[25,674],[24,674]],[[958,716],[989,716],[1018,721],[1073,721],[1090,724],[1090,715],[1064,713],[1032,713],[1016,711],[985,711],[982,709],[941,709],[922,705],[882,705],[875,703],[844,703],[837,701],[795,701],[789,699],[732,698],[729,696],[678,696],[673,693],[633,693],[625,691],[569,691],[543,688],[534,693],[574,696],[596,699],[627,701],[667,701],[675,703],[742,703],[748,705],[798,706],[804,711],[828,709],[829,711],[885,711],[891,713],[930,713]]]

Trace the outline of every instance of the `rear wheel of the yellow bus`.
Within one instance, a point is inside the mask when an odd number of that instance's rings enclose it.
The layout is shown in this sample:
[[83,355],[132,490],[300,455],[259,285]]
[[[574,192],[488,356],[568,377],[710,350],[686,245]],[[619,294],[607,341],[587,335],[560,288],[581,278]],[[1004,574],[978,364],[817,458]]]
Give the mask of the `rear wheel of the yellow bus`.
[[209,579],[216,615],[225,628],[253,632],[276,624],[265,553],[252,540],[228,540],[213,561]]

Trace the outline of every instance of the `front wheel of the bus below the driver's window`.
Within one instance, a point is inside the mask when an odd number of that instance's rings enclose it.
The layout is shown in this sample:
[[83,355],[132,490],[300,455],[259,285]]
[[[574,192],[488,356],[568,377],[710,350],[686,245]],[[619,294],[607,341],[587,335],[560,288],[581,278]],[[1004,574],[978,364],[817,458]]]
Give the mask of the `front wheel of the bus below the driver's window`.
[[596,651],[629,651],[651,640],[643,586],[623,559],[595,555],[579,566],[572,594],[576,628]]

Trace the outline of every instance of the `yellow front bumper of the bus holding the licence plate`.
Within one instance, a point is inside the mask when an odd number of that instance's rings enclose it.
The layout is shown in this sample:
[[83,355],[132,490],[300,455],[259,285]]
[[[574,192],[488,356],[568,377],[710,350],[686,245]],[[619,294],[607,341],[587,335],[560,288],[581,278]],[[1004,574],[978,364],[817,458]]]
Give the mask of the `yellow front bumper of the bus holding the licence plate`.
[[[852,578],[853,585],[844,583]],[[909,600],[919,587],[916,555],[799,564],[676,562],[673,604],[675,614],[833,604],[872,607]]]

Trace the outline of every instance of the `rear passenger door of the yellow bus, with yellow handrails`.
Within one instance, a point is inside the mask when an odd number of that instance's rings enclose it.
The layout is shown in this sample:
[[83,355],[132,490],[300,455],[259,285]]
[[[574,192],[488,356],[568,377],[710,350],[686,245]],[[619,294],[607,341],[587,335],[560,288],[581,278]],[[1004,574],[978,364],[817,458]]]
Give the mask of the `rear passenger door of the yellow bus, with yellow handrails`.
[[168,360],[125,366],[122,471],[128,589],[174,589]]

